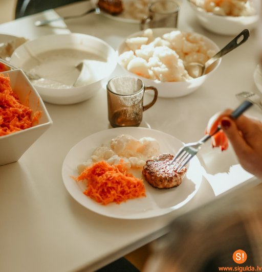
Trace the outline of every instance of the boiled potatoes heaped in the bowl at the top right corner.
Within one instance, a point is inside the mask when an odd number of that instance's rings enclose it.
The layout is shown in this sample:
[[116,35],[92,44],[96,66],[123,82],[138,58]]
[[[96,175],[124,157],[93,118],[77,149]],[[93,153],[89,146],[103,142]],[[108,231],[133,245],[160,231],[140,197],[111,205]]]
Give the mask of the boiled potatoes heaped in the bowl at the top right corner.
[[190,0],[207,12],[222,16],[250,16],[255,14],[249,0]]

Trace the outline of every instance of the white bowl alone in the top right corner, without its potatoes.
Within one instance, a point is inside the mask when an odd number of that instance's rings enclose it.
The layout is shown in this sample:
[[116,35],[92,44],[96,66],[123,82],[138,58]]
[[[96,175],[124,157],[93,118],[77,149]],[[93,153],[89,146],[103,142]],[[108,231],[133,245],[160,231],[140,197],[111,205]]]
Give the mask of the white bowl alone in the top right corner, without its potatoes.
[[244,29],[252,30],[258,24],[258,14],[237,17],[220,16],[215,15],[212,12],[206,12],[202,8],[192,4],[190,0],[188,0],[188,2],[195,15],[197,15],[201,26],[217,34],[233,36],[239,34]]

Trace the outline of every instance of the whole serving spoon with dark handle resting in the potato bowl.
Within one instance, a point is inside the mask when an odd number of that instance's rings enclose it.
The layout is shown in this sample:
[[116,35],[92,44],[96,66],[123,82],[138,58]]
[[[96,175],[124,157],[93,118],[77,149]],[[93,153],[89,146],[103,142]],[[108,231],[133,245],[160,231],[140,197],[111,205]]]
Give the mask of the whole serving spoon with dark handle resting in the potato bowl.
[[192,78],[197,78],[205,75],[207,68],[213,64],[217,59],[226,55],[233,49],[241,46],[249,38],[250,32],[248,29],[244,29],[235,38],[233,38],[224,48],[222,48],[218,53],[216,53],[212,58],[206,61],[205,64],[198,62],[190,62],[185,64],[185,69],[187,70],[189,76]]

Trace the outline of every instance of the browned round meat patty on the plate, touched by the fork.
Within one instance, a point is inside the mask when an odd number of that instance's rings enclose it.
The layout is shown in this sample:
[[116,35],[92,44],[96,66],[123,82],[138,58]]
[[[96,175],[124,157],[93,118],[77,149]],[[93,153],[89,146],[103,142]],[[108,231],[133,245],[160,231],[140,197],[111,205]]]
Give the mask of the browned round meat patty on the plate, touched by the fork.
[[160,154],[154,160],[146,161],[142,173],[152,187],[170,189],[182,183],[187,169],[183,167],[180,172],[174,171],[174,165],[169,165],[173,157],[171,154]]

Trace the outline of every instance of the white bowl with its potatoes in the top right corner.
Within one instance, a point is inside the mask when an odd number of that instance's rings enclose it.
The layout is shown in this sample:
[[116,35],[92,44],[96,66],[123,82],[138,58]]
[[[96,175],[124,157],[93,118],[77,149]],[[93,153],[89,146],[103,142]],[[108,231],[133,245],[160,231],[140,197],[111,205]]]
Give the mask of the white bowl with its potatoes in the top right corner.
[[188,0],[201,26],[222,35],[237,35],[243,29],[255,28],[259,20],[258,1]]

